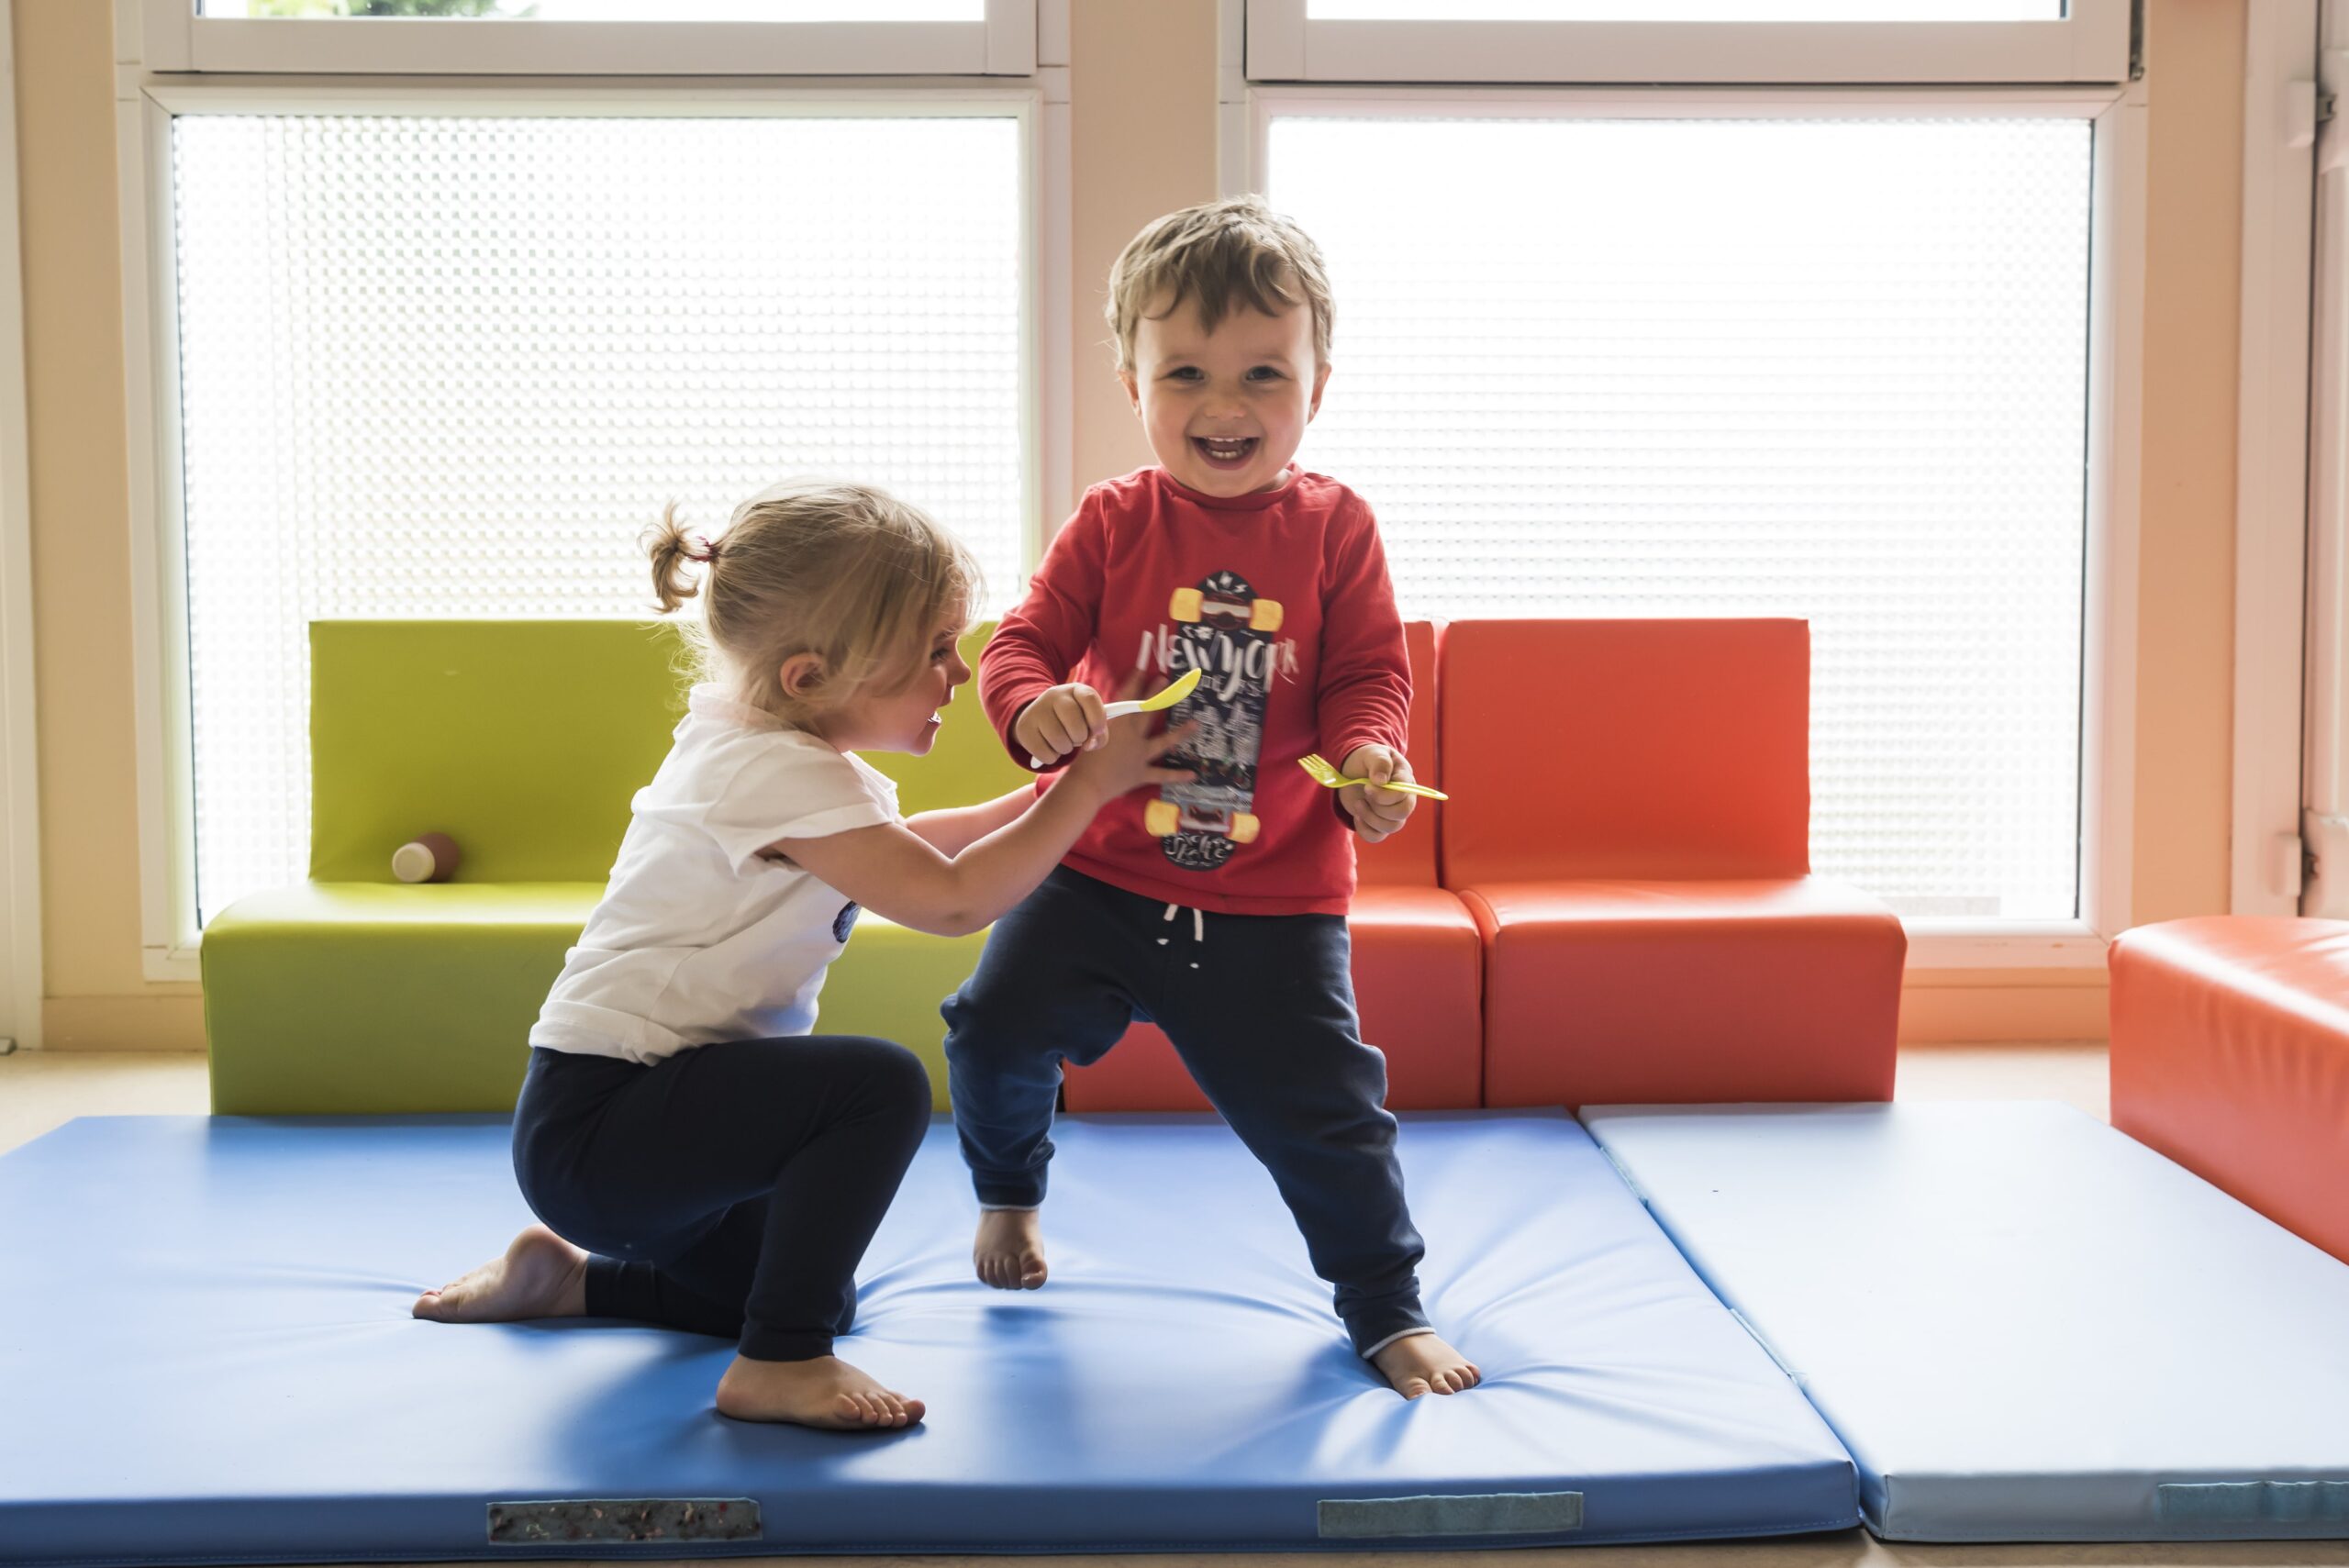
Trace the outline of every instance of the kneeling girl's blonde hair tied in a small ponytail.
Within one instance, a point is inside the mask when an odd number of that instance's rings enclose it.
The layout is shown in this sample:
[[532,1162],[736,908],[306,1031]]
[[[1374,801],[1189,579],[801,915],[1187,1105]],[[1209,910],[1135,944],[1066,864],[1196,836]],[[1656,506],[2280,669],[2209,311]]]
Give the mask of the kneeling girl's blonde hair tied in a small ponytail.
[[[688,535],[669,502],[641,545],[662,613],[702,599],[686,622],[698,678],[794,725],[867,685],[902,688],[928,660],[930,634],[968,622],[980,601],[970,549],[869,484],[778,484],[735,507],[714,540]],[[799,653],[822,669],[794,697],[780,671]]]

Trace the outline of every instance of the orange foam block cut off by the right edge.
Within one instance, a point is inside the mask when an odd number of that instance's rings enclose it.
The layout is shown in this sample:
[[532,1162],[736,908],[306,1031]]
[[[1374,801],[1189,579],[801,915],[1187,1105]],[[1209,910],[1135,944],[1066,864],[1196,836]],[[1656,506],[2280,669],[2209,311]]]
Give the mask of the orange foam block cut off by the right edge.
[[2349,920],[2112,944],[2112,1124],[2349,1261]]

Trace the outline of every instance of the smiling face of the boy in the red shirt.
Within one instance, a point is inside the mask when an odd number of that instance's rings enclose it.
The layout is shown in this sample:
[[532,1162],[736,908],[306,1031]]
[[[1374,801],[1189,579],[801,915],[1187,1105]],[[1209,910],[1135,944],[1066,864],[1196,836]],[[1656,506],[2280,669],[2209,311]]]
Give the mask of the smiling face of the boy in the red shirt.
[[1247,495],[1287,481],[1290,458],[1320,413],[1330,366],[1313,361],[1313,310],[1276,317],[1240,303],[1214,331],[1184,300],[1135,322],[1135,364],[1118,373],[1151,453],[1207,495]]

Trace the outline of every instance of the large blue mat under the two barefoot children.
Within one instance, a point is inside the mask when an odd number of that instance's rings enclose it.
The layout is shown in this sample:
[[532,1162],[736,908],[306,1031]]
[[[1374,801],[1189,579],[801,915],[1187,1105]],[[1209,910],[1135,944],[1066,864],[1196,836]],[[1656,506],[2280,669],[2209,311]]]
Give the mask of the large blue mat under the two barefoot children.
[[[897,1434],[733,1422],[723,1340],[453,1326],[529,1223],[498,1117],[92,1117],[0,1157],[0,1559],[1485,1547],[1835,1530],[1851,1460],[1562,1113],[1405,1117],[1428,1307],[1485,1387],[1344,1343],[1214,1117],[1066,1117],[1052,1282],[970,1277],[935,1127],[841,1354]],[[566,1507],[585,1505],[585,1507]],[[658,1535],[653,1535],[658,1530]]]

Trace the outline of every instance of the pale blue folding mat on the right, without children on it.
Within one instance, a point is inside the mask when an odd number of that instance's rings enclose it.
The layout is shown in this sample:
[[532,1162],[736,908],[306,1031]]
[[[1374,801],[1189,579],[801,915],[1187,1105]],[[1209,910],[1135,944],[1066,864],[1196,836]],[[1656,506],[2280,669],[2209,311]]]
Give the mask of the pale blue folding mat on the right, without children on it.
[[1586,1108],[1889,1540],[2349,1535],[2349,1263],[2067,1106]]

